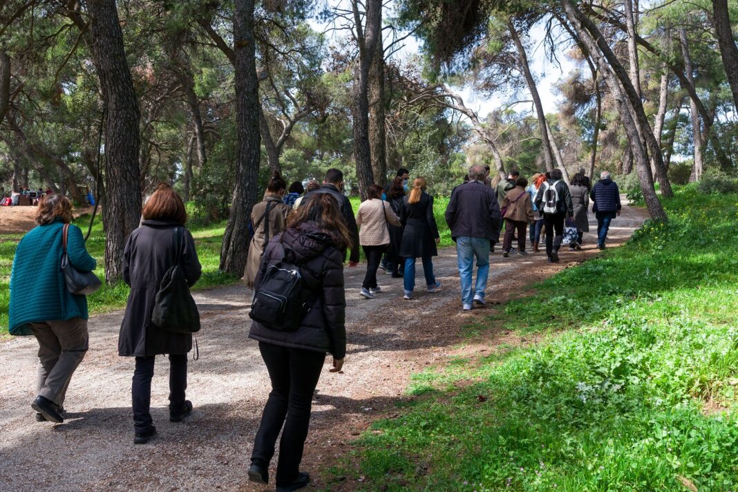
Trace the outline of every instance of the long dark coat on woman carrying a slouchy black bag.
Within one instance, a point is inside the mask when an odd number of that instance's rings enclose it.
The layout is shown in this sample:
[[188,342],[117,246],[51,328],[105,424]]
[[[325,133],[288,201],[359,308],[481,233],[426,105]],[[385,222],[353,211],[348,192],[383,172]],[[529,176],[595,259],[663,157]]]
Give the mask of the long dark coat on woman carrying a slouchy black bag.
[[[151,324],[154,299],[159,284],[176,258],[174,234],[179,224],[143,221],[131,232],[123,253],[123,280],[131,285],[128,304],[118,336],[121,356],[156,356],[162,353],[184,354],[192,350],[192,335],[159,330]],[[201,267],[195,240],[184,229],[181,265],[190,286],[200,278]]]

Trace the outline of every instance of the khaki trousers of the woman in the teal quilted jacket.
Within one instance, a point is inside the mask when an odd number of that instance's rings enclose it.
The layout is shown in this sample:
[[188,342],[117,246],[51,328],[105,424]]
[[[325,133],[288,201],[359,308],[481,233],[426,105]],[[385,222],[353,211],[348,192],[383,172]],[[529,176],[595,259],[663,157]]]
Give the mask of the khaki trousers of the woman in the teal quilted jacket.
[[87,320],[31,323],[31,330],[38,340],[36,392],[63,406],[66,388],[89,345]]

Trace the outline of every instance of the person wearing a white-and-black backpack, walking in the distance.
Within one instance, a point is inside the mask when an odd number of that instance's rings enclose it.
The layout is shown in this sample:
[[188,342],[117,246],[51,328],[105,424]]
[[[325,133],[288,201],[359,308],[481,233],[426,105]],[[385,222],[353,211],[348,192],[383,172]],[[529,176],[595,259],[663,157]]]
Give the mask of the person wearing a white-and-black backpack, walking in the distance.
[[559,248],[564,238],[564,219],[567,214],[571,217],[574,213],[569,187],[564,182],[560,169],[551,171],[551,178],[538,190],[535,203],[538,209],[543,210],[548,261],[556,263],[559,261]]

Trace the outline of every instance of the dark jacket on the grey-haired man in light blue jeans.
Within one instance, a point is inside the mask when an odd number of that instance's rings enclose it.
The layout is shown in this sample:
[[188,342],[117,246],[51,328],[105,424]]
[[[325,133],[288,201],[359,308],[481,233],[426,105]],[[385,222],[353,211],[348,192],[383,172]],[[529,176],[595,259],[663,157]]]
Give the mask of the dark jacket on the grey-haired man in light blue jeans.
[[446,207],[446,224],[451,237],[497,240],[500,229],[500,205],[494,190],[479,181],[455,187]]

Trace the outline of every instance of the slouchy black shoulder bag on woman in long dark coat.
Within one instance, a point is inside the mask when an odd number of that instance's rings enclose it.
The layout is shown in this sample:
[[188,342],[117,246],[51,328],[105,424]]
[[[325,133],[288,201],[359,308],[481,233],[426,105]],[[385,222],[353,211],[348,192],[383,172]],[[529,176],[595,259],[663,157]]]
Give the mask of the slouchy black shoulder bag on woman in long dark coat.
[[182,227],[174,229],[174,249],[176,259],[159,284],[151,322],[156,328],[173,333],[196,333],[200,330],[200,313],[190,294],[190,285],[187,285],[187,279],[184,278],[184,270],[179,264],[184,250]]

